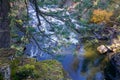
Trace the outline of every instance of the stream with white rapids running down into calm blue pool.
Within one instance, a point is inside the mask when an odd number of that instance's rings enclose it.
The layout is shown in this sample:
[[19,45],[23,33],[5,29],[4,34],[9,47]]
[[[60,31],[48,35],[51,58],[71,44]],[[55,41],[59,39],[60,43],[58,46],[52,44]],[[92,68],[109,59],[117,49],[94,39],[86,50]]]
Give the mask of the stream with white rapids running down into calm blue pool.
[[[33,20],[30,21],[30,24],[38,31],[38,27],[36,27],[36,16],[33,9],[30,7],[30,16],[32,16]],[[44,29],[47,28],[48,24],[41,18],[42,26]],[[54,20],[56,21],[56,20]],[[60,24],[63,24],[62,22]],[[52,32],[47,32],[50,34]],[[36,37],[36,36],[35,36]],[[40,37],[36,37],[37,39],[42,39]],[[57,41],[55,36],[51,37],[52,39]],[[46,38],[44,38],[46,40]],[[61,50],[54,55],[54,58],[48,54],[47,52],[40,51],[35,42],[32,40],[31,43],[27,44],[26,54],[30,57],[35,57],[38,61],[47,60],[47,59],[56,59],[61,62],[64,70],[68,73],[68,77],[72,80],[104,80],[103,76],[103,68],[105,64],[104,56],[101,56],[96,51],[96,45],[91,45],[89,43],[77,43],[77,39],[71,38],[71,45],[63,46]],[[54,43],[54,45],[53,45]],[[55,47],[56,43],[49,43],[48,45],[53,45]],[[46,47],[48,45],[40,46]],[[80,47],[79,47],[80,46]]]

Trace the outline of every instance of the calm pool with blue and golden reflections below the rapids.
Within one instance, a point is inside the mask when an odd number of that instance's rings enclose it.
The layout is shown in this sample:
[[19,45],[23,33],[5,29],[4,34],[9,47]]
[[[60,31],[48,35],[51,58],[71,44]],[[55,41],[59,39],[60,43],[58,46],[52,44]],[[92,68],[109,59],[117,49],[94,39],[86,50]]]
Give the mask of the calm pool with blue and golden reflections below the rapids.
[[63,68],[72,80],[104,80],[103,69],[107,58],[99,55],[96,47],[84,44],[84,53],[81,50],[77,55],[66,54],[57,57]]

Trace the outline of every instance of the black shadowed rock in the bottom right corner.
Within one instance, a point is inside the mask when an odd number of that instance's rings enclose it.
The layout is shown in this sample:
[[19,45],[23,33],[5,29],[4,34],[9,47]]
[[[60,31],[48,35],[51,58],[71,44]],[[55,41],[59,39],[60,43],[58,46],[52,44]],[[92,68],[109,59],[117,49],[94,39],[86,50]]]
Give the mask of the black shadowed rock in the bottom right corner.
[[120,53],[114,54],[105,68],[106,80],[120,80]]

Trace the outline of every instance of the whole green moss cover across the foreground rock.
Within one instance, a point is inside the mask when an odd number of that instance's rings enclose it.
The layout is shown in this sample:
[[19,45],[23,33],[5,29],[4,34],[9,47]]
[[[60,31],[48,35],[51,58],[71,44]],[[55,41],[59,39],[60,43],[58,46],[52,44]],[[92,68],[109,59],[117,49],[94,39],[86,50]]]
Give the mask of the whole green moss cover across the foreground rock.
[[[14,80],[64,80],[64,72],[61,64],[56,60],[35,62],[34,59],[26,59],[30,63],[20,65],[14,60],[12,66],[12,79]],[[19,66],[20,65],[20,66]],[[22,78],[23,77],[23,78]]]

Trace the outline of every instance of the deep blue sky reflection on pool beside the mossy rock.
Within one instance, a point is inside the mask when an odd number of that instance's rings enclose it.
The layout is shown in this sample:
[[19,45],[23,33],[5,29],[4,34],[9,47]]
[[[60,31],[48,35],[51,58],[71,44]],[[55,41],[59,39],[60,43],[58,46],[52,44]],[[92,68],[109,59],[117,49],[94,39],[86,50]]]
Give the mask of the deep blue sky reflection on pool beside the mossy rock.
[[[60,59],[60,58],[59,58]],[[65,55],[60,59],[66,72],[72,80],[86,80],[85,76],[80,75],[83,58],[76,57],[72,54]]]

